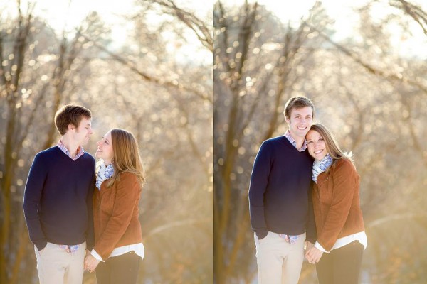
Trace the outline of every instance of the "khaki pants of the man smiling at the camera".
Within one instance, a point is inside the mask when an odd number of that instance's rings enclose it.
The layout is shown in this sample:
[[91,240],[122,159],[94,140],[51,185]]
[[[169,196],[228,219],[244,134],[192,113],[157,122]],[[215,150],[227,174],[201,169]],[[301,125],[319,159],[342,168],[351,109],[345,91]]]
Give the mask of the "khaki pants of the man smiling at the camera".
[[255,234],[258,284],[297,284],[304,261],[304,241],[305,233],[295,244],[271,231],[261,240]]

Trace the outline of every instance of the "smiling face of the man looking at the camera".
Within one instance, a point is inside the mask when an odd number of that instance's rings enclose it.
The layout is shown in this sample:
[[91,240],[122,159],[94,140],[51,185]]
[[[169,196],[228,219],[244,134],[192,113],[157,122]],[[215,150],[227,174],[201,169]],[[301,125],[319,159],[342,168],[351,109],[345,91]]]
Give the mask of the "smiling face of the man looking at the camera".
[[286,119],[288,122],[290,135],[294,139],[297,137],[305,137],[310,130],[312,124],[313,113],[311,107],[301,107],[300,109],[292,109],[290,111],[290,118]]

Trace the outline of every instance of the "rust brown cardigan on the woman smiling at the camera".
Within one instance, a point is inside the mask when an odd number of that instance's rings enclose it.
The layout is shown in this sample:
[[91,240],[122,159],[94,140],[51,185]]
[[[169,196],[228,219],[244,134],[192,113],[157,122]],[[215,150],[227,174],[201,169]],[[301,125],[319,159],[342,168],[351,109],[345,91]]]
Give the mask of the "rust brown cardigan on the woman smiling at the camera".
[[346,158],[317,176],[312,191],[317,241],[330,251],[337,239],[364,231],[359,198],[359,175]]

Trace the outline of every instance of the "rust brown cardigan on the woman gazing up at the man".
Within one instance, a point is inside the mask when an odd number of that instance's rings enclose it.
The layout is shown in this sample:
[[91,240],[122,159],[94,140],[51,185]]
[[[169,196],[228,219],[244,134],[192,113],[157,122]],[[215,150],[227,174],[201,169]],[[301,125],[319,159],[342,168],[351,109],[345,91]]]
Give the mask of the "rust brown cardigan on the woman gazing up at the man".
[[107,182],[102,182],[101,190],[94,190],[93,249],[102,260],[105,261],[117,247],[142,243],[138,219],[141,190],[137,176],[132,173],[121,173],[120,181],[116,181],[110,188],[107,188]]

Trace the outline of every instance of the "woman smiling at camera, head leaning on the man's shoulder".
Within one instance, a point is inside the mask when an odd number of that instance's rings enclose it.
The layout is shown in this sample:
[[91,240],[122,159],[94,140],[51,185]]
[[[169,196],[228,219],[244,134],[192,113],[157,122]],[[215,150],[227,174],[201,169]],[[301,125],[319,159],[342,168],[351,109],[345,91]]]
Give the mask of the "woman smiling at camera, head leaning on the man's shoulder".
[[352,155],[339,148],[322,124],[307,136],[313,163],[313,208],[317,241],[305,253],[316,264],[320,284],[359,283],[362,253],[367,246],[359,200],[359,175]]

